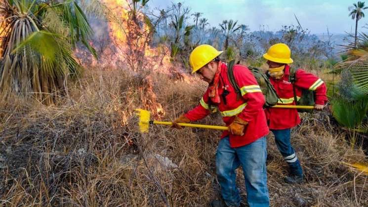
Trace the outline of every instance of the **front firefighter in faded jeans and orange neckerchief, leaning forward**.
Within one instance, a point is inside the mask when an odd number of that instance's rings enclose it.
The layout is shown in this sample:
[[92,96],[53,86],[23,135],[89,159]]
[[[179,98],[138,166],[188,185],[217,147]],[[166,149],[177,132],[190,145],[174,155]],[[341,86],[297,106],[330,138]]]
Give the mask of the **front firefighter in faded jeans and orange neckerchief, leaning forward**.
[[238,94],[227,76],[227,66],[218,58],[221,53],[206,44],[193,50],[189,58],[192,73],[198,73],[209,86],[200,104],[181,115],[172,126],[181,128],[177,123],[203,119],[213,108],[217,108],[229,131],[223,132],[216,152],[216,173],[222,200],[213,201],[211,206],[240,205],[235,170],[242,166],[248,205],[268,207],[266,135],[269,129],[262,108],[265,99],[252,73],[242,65],[233,67],[242,95],[237,98]]

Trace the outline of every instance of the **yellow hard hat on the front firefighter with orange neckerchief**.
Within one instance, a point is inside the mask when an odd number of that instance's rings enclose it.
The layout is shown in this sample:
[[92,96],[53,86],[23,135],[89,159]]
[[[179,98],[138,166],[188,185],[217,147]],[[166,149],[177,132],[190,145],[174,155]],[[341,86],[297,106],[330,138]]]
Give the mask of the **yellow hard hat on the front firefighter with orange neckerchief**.
[[217,51],[214,47],[208,44],[202,44],[194,48],[189,56],[189,63],[192,67],[192,74],[197,72],[207,63],[211,62],[215,57],[219,56],[223,51]]

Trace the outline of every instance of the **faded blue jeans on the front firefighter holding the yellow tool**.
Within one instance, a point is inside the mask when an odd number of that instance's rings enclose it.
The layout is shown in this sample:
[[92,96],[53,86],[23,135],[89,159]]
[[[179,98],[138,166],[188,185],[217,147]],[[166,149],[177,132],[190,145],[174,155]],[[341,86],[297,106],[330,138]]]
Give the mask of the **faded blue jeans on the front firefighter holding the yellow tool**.
[[268,207],[269,197],[266,170],[266,137],[243,147],[231,148],[229,137],[220,140],[216,152],[216,172],[221,195],[229,207],[239,207],[236,169],[243,167],[249,207]]

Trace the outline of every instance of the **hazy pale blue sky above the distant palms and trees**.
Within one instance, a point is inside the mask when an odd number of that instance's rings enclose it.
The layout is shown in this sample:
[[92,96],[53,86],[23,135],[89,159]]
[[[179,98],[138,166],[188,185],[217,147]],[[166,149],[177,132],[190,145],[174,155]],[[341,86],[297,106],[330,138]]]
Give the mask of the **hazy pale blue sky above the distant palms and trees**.
[[[358,0],[150,0],[149,5],[166,8],[171,2],[182,2],[191,13],[202,12],[211,26],[233,19],[248,25],[251,31],[259,30],[260,25],[270,31],[280,30],[282,25],[297,25],[295,13],[303,28],[318,34],[326,33],[327,26],[330,33],[354,32],[355,20],[348,16],[348,7]],[[360,31],[368,30],[362,28],[368,23],[368,9],[365,13],[359,21]]]

